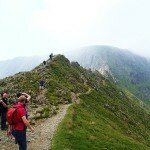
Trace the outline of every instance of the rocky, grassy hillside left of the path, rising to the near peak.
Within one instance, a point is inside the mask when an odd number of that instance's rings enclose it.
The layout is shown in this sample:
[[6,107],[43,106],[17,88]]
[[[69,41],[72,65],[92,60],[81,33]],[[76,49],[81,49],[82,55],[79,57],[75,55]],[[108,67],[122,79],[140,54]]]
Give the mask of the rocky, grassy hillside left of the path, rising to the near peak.
[[[16,99],[17,92],[29,93],[32,96],[29,110],[31,114],[34,113],[32,119],[40,119],[57,113],[59,104],[70,103],[72,94],[87,91],[84,78],[88,78],[88,74],[94,75],[78,63],[70,63],[64,56],[58,55],[30,72],[20,72],[0,80],[0,91],[9,91],[10,103]],[[38,83],[41,78],[46,81],[42,94]],[[99,78],[103,77],[99,75]]]

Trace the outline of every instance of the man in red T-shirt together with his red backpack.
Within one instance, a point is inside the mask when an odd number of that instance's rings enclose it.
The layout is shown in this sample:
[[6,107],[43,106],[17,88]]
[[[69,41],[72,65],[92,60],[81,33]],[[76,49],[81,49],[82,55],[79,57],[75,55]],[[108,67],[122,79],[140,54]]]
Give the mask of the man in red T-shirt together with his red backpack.
[[7,112],[9,130],[15,137],[15,140],[19,145],[19,150],[27,149],[26,128],[28,127],[32,132],[34,132],[34,129],[31,127],[26,117],[26,102],[27,97],[25,95],[21,95],[18,98],[17,104],[14,107],[10,108]]

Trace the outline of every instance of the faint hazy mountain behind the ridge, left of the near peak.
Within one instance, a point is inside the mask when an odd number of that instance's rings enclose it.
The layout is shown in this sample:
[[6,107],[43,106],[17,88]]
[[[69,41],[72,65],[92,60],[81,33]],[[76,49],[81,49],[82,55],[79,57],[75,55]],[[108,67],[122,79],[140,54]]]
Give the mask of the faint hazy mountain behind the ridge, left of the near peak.
[[20,71],[30,71],[35,66],[46,60],[48,56],[17,57],[10,60],[0,61],[0,79],[18,73]]

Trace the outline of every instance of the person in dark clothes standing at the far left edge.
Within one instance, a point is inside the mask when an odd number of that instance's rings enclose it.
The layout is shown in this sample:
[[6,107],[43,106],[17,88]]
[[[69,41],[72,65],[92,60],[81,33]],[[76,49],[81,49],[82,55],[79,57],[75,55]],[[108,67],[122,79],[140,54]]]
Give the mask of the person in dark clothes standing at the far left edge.
[[1,94],[2,99],[0,100],[0,114],[1,114],[1,130],[6,130],[6,112],[8,109],[8,93],[3,92]]

